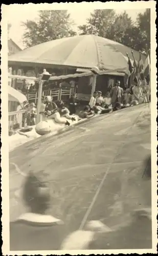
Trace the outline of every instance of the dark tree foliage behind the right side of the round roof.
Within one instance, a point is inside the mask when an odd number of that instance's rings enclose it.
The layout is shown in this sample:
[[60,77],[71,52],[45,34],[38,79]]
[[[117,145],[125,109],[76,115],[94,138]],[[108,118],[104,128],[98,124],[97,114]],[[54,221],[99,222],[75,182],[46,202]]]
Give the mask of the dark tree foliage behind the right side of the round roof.
[[142,52],[146,46],[150,49],[150,9],[139,13],[135,24],[125,11],[116,14],[112,9],[95,10],[78,28],[81,35],[95,34]]

